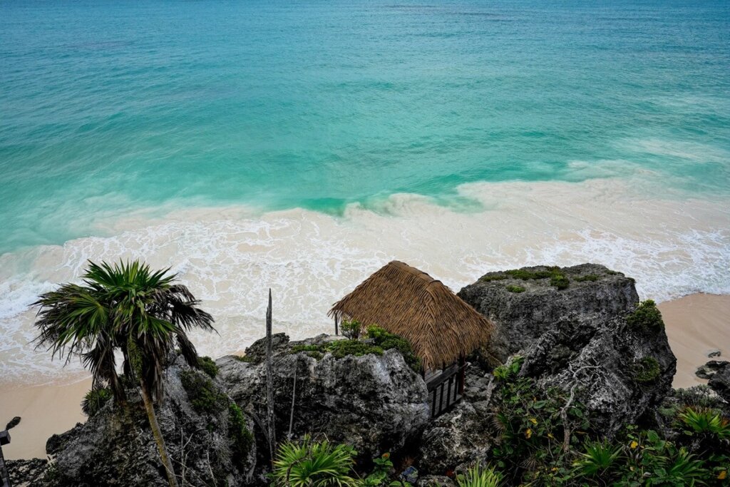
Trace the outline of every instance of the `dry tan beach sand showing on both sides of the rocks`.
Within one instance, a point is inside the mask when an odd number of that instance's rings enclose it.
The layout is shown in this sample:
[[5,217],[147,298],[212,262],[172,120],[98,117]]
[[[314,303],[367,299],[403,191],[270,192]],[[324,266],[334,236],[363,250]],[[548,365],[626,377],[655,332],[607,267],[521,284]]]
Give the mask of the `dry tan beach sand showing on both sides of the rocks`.
[[[659,304],[669,344],[677,356],[675,387],[707,383],[694,375],[704,364],[707,351],[721,350],[730,357],[730,296],[692,294]],[[23,420],[11,431],[12,442],[3,448],[6,459],[45,458],[45,442],[85,421],[80,402],[91,380],[69,386],[26,387],[0,383],[0,421],[13,416]],[[4,426],[4,423],[0,426]]]

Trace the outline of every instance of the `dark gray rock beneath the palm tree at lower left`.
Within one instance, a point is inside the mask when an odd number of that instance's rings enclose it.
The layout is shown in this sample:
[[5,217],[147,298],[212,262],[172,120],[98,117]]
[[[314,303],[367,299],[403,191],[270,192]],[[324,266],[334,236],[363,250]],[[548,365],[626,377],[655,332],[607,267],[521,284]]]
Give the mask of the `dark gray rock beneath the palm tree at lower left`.
[[[225,394],[214,384],[222,396],[220,407],[211,413],[196,412],[180,379],[184,371],[207,377],[177,358],[167,369],[164,402],[155,408],[180,483],[184,477],[189,485],[245,485],[253,470],[255,445],[245,458],[237,458]],[[137,391],[130,390],[128,400],[126,410],[107,404],[86,423],[52,437],[47,446],[55,462],[41,485],[167,486]]]

